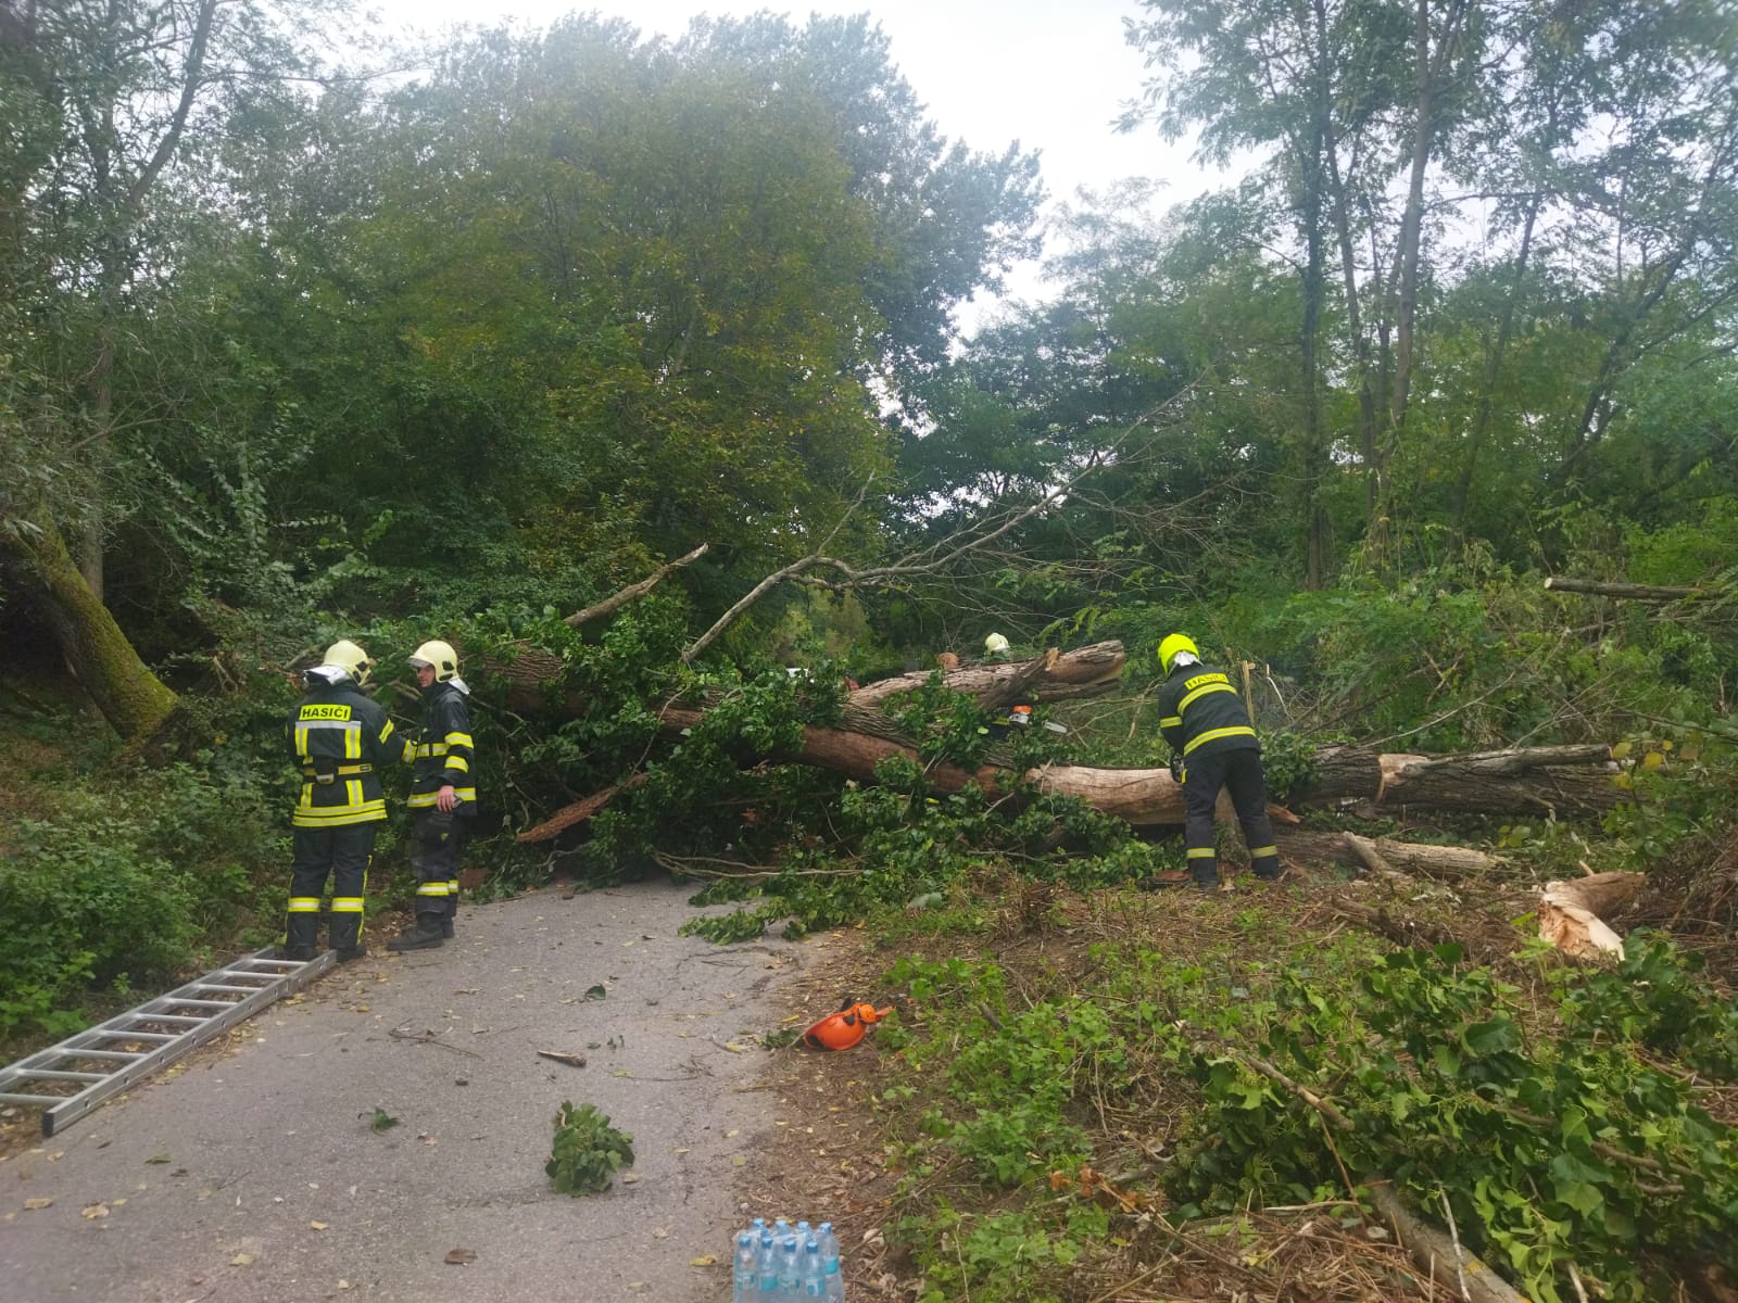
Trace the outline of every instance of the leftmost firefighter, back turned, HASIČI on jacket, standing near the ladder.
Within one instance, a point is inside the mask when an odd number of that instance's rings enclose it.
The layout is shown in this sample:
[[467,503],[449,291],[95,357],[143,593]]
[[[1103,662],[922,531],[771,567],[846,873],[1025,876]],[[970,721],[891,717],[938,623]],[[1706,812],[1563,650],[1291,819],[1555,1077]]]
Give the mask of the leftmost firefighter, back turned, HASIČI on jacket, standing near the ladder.
[[289,745],[302,766],[302,796],[290,818],[290,909],[283,957],[309,961],[320,935],[320,896],[332,877],[332,947],[341,962],[360,959],[362,907],[374,836],[386,818],[379,768],[395,759],[393,721],[363,695],[368,653],[334,643],[302,678],[308,695],[290,714]]

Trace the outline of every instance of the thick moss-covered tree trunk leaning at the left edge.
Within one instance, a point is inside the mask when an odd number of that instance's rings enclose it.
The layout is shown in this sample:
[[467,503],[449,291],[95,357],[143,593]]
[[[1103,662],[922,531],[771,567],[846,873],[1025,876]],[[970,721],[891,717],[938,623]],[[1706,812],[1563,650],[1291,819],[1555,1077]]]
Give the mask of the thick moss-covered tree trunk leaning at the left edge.
[[54,521],[42,513],[0,521],[0,566],[47,620],[66,664],[115,731],[129,742],[151,737],[176,709],[176,693],[139,660]]

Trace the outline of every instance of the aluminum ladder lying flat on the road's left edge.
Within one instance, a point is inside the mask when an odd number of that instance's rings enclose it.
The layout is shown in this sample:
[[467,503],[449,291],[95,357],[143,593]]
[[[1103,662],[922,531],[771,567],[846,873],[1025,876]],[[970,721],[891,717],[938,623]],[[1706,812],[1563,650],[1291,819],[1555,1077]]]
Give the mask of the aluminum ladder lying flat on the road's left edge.
[[306,962],[273,954],[276,947],[242,956],[130,1013],[9,1063],[0,1068],[0,1103],[42,1108],[42,1134],[52,1136],[337,964],[335,950]]

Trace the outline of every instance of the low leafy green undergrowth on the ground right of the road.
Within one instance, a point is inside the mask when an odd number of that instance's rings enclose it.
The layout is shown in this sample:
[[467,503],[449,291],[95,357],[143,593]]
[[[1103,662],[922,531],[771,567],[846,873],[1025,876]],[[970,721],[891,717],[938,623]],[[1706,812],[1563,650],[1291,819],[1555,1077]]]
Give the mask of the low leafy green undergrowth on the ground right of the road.
[[[1161,1258],[1166,1227],[1375,1180],[1432,1216],[1446,1197],[1545,1303],[1576,1296],[1571,1265],[1637,1303],[1738,1268],[1738,1140],[1702,1089],[1738,1081],[1738,1011],[1695,956],[1641,935],[1599,971],[1522,947],[1522,989],[1264,903],[1204,943],[1187,919],[1180,945],[1149,940],[1152,917],[1072,959],[888,973],[909,1002],[879,1030],[878,1107],[923,1303],[1072,1298],[1083,1272]],[[1145,1211],[1058,1199],[1083,1164]]]

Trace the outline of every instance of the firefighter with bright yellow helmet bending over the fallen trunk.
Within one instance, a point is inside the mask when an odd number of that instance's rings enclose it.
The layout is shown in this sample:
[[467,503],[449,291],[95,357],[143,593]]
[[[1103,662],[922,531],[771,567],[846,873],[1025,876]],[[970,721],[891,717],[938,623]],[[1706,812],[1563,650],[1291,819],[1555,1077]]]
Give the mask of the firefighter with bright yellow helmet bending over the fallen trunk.
[[1267,818],[1267,775],[1262,744],[1255,738],[1250,712],[1231,678],[1201,664],[1201,650],[1187,634],[1170,634],[1159,643],[1159,733],[1171,744],[1171,777],[1184,785],[1189,872],[1196,886],[1218,886],[1218,853],[1213,846],[1213,806],[1222,787],[1250,844],[1255,876],[1279,877],[1274,825]]

